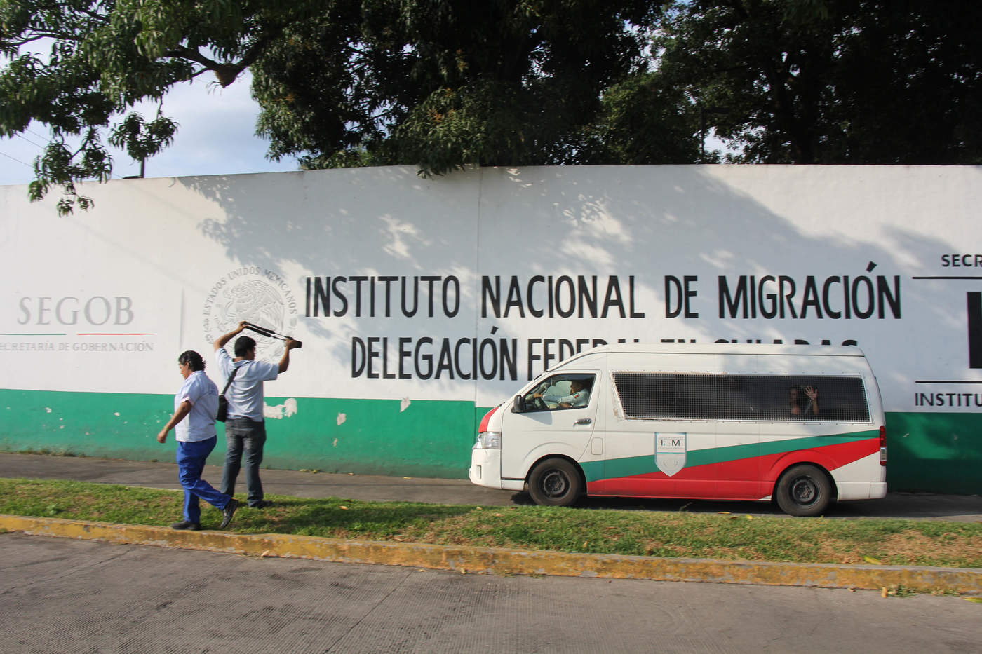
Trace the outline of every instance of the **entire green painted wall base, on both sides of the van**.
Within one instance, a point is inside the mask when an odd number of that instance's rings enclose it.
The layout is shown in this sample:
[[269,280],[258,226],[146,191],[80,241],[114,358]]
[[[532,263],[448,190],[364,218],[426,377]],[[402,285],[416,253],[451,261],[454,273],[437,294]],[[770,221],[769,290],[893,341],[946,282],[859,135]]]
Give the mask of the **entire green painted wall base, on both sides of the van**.
[[[173,402],[170,395],[0,390],[0,450],[171,461],[173,435],[165,445],[156,435]],[[403,409],[399,400],[300,398],[296,414],[267,419],[263,465],[464,479],[487,410],[469,402],[414,401]],[[888,413],[887,444],[890,490],[982,494],[982,413]]]

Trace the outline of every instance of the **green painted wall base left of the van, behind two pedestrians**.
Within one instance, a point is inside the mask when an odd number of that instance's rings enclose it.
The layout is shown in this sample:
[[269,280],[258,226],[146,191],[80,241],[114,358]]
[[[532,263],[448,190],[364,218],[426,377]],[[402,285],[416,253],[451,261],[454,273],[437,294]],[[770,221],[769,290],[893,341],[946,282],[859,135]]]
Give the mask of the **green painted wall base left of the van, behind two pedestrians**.
[[[170,395],[0,390],[0,450],[170,461],[173,432],[164,445],[156,436],[173,403]],[[464,479],[478,412],[468,402],[403,409],[399,400],[299,398],[296,414],[267,418],[263,466]],[[221,423],[218,435],[221,443]]]

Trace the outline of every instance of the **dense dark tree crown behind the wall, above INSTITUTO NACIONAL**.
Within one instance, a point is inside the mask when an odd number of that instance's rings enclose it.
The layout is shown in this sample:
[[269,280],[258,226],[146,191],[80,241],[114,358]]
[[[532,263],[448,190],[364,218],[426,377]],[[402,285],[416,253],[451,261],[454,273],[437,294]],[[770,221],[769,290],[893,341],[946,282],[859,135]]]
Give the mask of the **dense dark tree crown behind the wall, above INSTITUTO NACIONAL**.
[[310,168],[564,163],[642,63],[646,0],[338,2],[257,65],[260,133]]

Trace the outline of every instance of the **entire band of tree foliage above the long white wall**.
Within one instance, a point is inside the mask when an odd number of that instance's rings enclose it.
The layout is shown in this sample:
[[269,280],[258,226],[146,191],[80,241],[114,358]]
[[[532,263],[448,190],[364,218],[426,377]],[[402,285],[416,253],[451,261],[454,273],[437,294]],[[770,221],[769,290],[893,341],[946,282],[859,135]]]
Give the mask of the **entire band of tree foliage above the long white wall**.
[[[977,164],[982,5],[941,0],[0,0],[0,136],[31,197],[176,137],[174,84],[246,70],[304,168],[716,161]],[[43,50],[43,52],[42,52]],[[158,103],[155,116],[132,112]],[[69,143],[73,143],[70,145]]]

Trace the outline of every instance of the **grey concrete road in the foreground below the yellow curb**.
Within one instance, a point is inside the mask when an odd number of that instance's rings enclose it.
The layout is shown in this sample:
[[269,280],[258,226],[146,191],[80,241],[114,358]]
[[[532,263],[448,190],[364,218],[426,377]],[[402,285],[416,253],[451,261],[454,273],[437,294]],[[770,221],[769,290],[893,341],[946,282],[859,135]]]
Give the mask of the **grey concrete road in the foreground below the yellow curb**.
[[0,534],[0,651],[977,652],[982,604],[500,577]]

